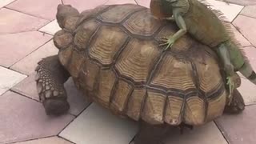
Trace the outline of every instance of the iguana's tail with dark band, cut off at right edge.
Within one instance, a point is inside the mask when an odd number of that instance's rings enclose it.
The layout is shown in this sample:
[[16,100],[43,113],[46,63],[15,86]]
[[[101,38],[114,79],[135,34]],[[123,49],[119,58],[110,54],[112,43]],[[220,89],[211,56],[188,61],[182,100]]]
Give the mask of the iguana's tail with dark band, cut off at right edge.
[[240,73],[245,76],[247,79],[250,80],[250,82],[253,82],[256,85],[256,74],[252,67],[250,66],[250,63],[246,61],[242,67],[239,69]]

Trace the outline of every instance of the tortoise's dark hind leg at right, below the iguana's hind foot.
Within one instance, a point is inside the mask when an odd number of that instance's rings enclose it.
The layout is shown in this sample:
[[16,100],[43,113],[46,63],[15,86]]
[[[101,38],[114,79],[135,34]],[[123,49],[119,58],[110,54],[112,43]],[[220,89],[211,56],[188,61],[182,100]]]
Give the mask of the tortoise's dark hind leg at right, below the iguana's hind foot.
[[242,95],[237,89],[233,91],[233,98],[230,102],[230,105],[226,105],[224,113],[226,114],[239,114],[245,109],[245,102],[242,98]]

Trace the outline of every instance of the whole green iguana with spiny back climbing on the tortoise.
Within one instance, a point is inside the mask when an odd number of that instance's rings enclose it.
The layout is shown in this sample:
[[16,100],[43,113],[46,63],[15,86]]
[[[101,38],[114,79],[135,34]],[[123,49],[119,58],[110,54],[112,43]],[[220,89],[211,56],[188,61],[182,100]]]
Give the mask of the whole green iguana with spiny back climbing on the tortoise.
[[242,46],[235,40],[229,22],[226,22],[220,11],[211,10],[206,2],[198,0],[151,0],[150,10],[156,18],[173,20],[180,29],[170,38],[162,38],[164,43],[161,46],[167,45],[168,49],[188,32],[199,42],[217,51],[227,75],[230,96],[234,89],[232,77],[235,71],[240,71],[256,84],[256,74],[242,53]]

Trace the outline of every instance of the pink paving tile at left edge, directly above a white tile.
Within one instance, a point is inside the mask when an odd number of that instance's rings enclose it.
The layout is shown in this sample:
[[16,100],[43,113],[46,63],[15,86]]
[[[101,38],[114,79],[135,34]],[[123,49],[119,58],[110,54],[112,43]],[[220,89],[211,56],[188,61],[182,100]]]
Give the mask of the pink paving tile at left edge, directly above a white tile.
[[10,67],[50,40],[38,31],[0,35],[0,65]]

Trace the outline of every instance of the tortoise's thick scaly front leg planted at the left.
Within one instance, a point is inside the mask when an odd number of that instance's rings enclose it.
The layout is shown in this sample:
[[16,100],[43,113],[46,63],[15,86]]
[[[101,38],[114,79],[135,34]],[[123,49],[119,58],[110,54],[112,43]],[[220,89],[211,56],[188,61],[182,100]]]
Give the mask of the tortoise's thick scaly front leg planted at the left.
[[64,114],[70,105],[66,101],[63,84],[70,74],[58,61],[58,55],[43,58],[38,62],[36,72],[39,99],[45,107],[46,114]]

